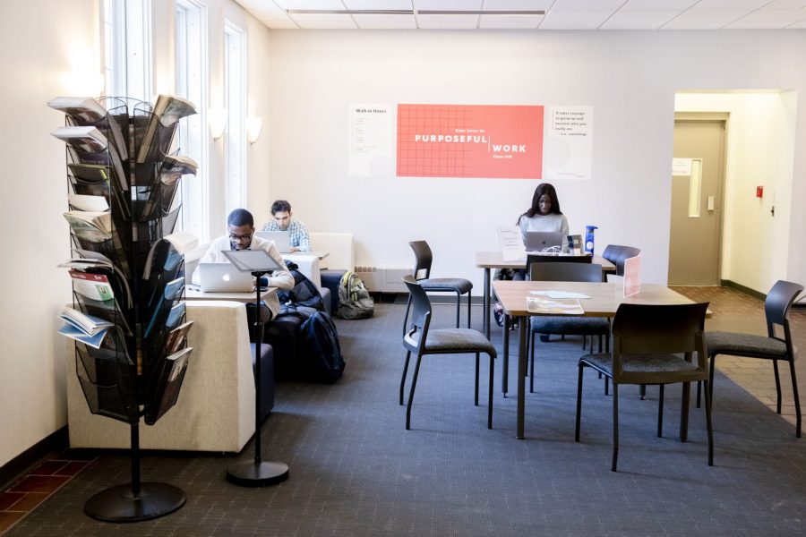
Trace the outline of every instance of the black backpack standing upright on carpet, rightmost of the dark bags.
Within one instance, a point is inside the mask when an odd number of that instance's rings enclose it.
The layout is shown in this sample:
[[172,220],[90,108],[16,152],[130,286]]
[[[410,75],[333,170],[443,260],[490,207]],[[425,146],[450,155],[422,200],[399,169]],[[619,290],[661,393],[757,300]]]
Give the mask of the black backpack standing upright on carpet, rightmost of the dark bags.
[[332,384],[344,372],[344,358],[339,332],[324,311],[314,311],[300,327],[299,357],[304,378],[311,382]]

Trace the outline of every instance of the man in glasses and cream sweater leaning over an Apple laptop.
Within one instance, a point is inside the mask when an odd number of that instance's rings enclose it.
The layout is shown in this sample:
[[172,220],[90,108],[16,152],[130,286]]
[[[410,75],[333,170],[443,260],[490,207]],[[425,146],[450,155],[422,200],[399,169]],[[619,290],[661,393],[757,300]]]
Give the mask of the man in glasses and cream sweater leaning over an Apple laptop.
[[[227,250],[264,250],[271,258],[282,267],[275,270],[269,276],[269,286],[279,289],[290,290],[294,287],[294,277],[288,272],[286,262],[280,256],[279,251],[271,241],[265,241],[254,234],[254,218],[252,213],[246,209],[235,209],[227,217],[227,234],[219,237],[212,243],[210,248],[199,260],[199,263],[228,263],[227,257],[222,251]],[[193,271],[193,284],[199,285],[199,268]],[[269,306],[271,317],[274,318],[279,312],[279,301],[277,294],[272,293],[266,297],[266,305]]]

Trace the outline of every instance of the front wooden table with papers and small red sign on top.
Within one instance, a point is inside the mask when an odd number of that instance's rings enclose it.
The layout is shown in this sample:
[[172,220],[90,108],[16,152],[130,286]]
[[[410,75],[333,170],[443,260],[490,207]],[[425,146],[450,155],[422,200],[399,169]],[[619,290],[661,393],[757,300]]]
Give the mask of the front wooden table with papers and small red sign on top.
[[[658,284],[643,284],[639,294],[629,298],[622,296],[620,284],[608,283],[580,283],[580,282],[527,282],[527,281],[495,281],[493,289],[501,301],[503,311],[510,317],[519,317],[519,343],[518,343],[518,423],[516,436],[524,438],[523,423],[526,408],[526,371],[527,371],[527,342],[530,326],[527,310],[527,296],[530,291],[572,291],[587,294],[590,298],[580,299],[579,303],[585,310],[585,317],[613,317],[619,305],[630,304],[688,304],[692,303],[682,294],[675,293],[667,286]],[[540,313],[539,315],[544,315]],[[506,337],[505,337],[506,340]],[[505,346],[504,353],[508,352],[509,345]]]

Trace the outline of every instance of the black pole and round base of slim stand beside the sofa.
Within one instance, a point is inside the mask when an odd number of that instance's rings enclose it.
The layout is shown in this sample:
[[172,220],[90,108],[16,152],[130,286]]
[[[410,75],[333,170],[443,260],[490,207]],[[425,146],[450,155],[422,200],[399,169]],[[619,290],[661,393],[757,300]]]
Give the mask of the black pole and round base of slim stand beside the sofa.
[[263,321],[261,319],[261,278],[268,271],[253,272],[255,286],[254,320],[254,461],[242,461],[227,468],[227,481],[241,487],[268,487],[288,479],[288,465],[261,460],[261,344]]

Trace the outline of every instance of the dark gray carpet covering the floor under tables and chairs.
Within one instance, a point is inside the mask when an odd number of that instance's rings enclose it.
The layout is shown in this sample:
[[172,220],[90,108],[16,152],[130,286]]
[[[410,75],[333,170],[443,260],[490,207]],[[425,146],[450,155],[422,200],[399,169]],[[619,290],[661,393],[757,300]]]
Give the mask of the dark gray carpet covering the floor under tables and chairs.
[[[435,326],[454,309],[437,306]],[[540,344],[527,439],[515,439],[515,398],[496,366],[493,430],[473,405],[473,357],[426,357],[412,429],[398,405],[404,306],[337,321],[347,360],[333,386],[281,384],[262,428],[263,454],[290,467],[266,489],[227,483],[227,465],[253,456],[146,454],[143,481],[187,493],[171,516],[105,524],[82,511],[92,494],[128,482],[125,456],[101,456],[8,535],[802,535],[806,439],[725,377],[716,379],[716,466],[705,417],[692,405],[677,440],[680,389],[666,390],[656,438],[656,388],[622,388],[620,472],[610,471],[611,398],[587,371],[582,442],[573,441],[579,339]],[[480,327],[480,309],[474,308]],[[501,329],[493,327],[501,349]],[[510,381],[515,360],[510,361]],[[193,364],[191,364],[193,367]],[[788,379],[785,379],[788,381]],[[181,404],[181,396],[180,396]]]

